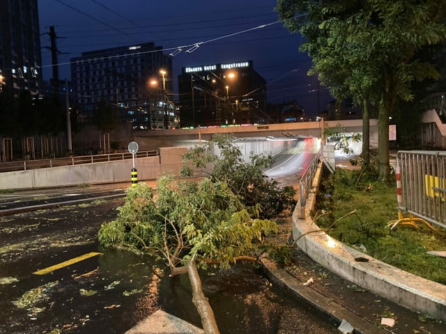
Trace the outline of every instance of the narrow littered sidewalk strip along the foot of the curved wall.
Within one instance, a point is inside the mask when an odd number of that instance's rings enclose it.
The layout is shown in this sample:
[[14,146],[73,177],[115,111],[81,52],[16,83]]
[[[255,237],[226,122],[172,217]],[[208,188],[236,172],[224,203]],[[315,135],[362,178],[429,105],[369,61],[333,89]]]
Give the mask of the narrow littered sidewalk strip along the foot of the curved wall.
[[[291,238],[292,225],[291,219],[279,225],[279,234],[272,241],[284,244]],[[337,324],[347,321],[355,328],[354,333],[446,333],[444,322],[404,308],[341,278],[298,248],[289,265],[279,266],[266,258],[262,262],[270,280],[290,296],[314,307]],[[383,319],[394,319],[394,326],[381,325]]]

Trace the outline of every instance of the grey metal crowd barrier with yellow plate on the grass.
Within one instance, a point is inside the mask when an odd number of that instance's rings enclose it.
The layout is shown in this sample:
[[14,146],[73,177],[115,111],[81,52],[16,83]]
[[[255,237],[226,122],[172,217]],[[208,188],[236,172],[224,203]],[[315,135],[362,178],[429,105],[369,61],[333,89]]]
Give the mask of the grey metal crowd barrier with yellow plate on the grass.
[[410,213],[446,228],[446,152],[397,153],[399,218]]

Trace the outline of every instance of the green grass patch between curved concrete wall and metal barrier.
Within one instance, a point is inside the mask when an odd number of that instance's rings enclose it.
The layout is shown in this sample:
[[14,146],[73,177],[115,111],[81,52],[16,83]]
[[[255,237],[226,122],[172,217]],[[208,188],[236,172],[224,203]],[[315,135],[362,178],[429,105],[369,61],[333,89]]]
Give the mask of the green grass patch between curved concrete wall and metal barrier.
[[[396,220],[397,185],[367,179],[360,171],[337,169],[323,178],[313,213],[316,224],[342,243],[391,266],[446,284],[446,261],[427,254],[446,250],[446,231],[387,223]],[[345,216],[345,217],[344,217]]]

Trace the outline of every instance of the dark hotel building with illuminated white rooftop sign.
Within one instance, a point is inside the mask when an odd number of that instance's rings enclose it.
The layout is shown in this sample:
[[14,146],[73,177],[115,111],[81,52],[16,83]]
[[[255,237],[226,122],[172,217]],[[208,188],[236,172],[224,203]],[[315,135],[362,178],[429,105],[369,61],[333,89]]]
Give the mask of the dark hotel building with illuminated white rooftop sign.
[[182,127],[269,123],[266,81],[252,61],[184,67],[178,93]]

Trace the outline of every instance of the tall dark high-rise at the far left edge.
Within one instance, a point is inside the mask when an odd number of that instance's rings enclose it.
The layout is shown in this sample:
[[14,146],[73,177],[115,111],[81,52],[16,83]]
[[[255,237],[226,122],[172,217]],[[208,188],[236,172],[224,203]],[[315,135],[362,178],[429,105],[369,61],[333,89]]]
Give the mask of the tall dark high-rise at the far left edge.
[[0,89],[40,93],[37,0],[0,0]]

